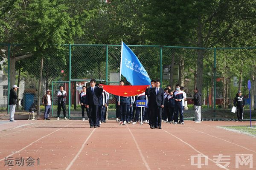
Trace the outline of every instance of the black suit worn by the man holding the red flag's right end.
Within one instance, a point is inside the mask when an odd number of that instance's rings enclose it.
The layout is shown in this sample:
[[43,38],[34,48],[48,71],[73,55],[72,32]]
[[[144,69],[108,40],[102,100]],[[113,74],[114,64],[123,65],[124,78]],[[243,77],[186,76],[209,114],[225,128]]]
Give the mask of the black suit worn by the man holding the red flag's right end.
[[158,93],[156,94],[156,88],[147,88],[146,95],[149,95],[148,106],[151,109],[151,125],[156,127],[157,116],[158,116],[158,125],[161,127],[162,123],[162,111],[161,105],[164,105],[164,91],[163,88],[159,88]]

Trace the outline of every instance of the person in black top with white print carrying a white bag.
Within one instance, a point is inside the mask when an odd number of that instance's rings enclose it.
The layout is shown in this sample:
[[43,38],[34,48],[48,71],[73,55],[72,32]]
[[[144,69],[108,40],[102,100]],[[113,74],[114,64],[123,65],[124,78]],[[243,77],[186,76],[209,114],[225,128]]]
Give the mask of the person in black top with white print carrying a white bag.
[[245,105],[244,96],[242,96],[241,91],[238,91],[238,94],[236,95],[236,97],[234,99],[234,106],[236,106],[236,112],[237,112],[237,121],[242,122],[242,120],[243,120],[244,105]]

